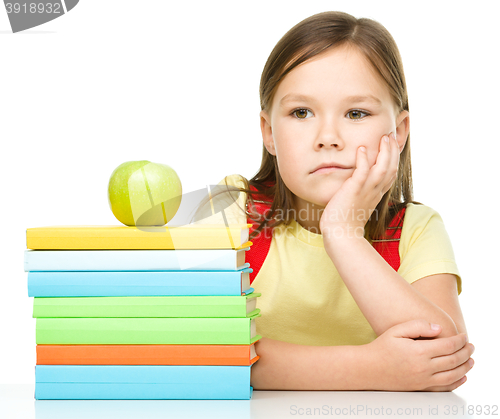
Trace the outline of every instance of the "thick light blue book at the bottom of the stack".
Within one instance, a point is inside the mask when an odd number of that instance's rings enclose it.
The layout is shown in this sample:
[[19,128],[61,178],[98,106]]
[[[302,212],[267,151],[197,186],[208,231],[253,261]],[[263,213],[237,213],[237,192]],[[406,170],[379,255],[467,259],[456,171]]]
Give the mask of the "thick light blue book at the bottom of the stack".
[[[249,400],[251,366],[37,365],[35,399]],[[165,413],[168,415],[168,412]]]

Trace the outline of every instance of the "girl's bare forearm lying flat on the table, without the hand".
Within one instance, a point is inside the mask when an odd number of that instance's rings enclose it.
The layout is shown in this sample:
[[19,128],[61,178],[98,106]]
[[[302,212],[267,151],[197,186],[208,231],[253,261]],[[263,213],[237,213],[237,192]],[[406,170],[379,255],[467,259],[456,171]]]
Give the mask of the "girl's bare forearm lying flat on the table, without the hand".
[[255,390],[376,390],[367,345],[307,346],[262,338],[252,366]]

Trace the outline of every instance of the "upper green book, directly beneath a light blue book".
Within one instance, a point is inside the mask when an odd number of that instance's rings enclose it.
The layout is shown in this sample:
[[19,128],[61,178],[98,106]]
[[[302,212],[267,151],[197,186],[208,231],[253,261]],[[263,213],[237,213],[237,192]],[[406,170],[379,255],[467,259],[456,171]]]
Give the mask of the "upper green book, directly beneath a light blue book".
[[260,295],[35,297],[33,317],[252,317]]

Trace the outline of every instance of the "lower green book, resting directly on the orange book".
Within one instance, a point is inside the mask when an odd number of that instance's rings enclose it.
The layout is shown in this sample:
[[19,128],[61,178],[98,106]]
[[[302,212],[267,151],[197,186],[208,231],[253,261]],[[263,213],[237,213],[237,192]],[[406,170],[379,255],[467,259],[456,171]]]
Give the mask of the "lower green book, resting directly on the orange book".
[[255,319],[246,318],[37,318],[36,343],[62,345],[250,345]]

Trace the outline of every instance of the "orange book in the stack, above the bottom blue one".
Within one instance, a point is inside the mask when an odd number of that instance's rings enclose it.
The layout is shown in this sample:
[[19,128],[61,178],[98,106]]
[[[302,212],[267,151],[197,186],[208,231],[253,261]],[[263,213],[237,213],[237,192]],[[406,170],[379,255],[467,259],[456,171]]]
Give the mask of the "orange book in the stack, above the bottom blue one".
[[252,365],[251,345],[36,345],[37,365]]

